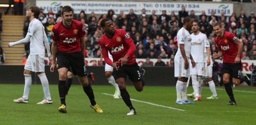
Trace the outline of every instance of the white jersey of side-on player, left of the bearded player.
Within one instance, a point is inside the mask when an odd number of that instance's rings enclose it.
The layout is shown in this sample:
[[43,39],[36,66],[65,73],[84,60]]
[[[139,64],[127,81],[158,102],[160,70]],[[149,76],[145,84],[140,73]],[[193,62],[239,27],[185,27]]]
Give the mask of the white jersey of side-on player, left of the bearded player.
[[186,54],[187,58],[190,58],[191,36],[190,36],[190,33],[185,28],[182,27],[178,31],[177,41],[178,41],[178,51],[175,56],[182,57],[179,44],[184,44],[185,54]]

